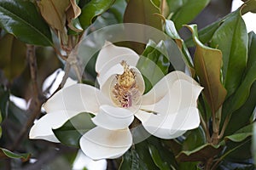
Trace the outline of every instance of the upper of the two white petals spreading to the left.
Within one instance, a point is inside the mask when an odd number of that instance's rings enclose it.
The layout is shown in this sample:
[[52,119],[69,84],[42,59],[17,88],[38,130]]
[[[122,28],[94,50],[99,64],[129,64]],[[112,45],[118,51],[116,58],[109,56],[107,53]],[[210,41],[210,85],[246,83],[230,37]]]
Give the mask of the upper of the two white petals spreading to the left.
[[100,105],[111,105],[99,89],[86,84],[74,84],[62,88],[44,104],[48,113],[53,111],[67,110],[76,112],[96,113]]

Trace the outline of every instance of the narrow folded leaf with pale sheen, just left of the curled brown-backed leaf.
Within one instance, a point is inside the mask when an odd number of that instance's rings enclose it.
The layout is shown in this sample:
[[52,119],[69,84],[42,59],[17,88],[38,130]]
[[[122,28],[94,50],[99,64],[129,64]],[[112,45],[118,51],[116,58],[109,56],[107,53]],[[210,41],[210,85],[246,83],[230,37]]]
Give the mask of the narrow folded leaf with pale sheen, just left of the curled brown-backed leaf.
[[183,42],[183,39],[178,35],[172,20],[166,20],[166,34],[175,40],[175,42],[177,43],[177,47],[183,52],[183,60],[189,67],[192,77],[194,77],[195,70],[193,60],[189,54],[189,50],[186,47],[186,44]]

